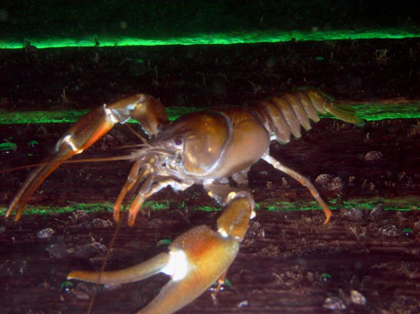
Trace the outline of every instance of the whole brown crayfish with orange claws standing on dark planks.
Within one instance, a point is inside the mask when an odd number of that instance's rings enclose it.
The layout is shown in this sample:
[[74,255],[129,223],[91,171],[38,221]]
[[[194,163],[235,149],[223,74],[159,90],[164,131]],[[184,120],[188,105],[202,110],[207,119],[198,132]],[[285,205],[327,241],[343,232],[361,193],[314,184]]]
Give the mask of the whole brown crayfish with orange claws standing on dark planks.
[[[173,122],[168,122],[162,103],[151,96],[136,94],[121,98],[93,109],[64,134],[56,144],[55,154],[23,183],[6,217],[16,210],[18,220],[31,194],[68,158],[84,151],[116,123],[137,120],[148,140],[143,148],[126,158],[133,161],[133,166],[115,202],[114,219],[120,220],[122,204],[132,199],[128,209],[128,225],[132,226],[145,199],[151,195],[167,186],[183,191],[193,184],[202,184],[224,208],[217,219],[217,230],[197,226],[178,236],[168,246],[168,252],[139,265],[114,272],[74,271],[68,278],[117,284],[163,272],[171,279],[138,313],[174,313],[199,297],[213,282],[218,282],[214,297],[219,290],[238,254],[249,221],[255,216],[248,172],[259,159],[306,186],[324,210],[328,223],[331,211],[312,183],[269,153],[271,140],[287,143],[291,135],[299,138],[300,126],[309,130],[309,120],[319,120],[317,112],[329,112],[343,121],[363,125],[351,108],[315,88],[283,92],[242,106],[212,107],[185,114]],[[235,187],[229,185],[229,177],[236,182]]]

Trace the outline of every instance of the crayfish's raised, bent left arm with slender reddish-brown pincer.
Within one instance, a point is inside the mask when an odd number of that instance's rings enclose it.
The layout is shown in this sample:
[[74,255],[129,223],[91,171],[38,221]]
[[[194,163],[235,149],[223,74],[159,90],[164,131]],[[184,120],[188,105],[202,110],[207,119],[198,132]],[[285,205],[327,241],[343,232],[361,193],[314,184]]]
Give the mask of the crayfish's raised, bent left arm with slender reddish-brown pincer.
[[[73,124],[58,140],[54,155],[46,158],[43,165],[28,176],[9,205],[6,211],[6,218],[16,209],[15,219],[19,220],[30,196],[49,174],[67,159],[82,153],[102,138],[116,123],[126,123],[130,118],[135,118],[140,124],[143,124],[144,130],[149,135],[157,134],[160,127],[168,121],[168,116],[162,103],[144,94],[123,97],[92,109]],[[116,207],[118,209],[114,214],[114,218],[118,221],[119,206]]]

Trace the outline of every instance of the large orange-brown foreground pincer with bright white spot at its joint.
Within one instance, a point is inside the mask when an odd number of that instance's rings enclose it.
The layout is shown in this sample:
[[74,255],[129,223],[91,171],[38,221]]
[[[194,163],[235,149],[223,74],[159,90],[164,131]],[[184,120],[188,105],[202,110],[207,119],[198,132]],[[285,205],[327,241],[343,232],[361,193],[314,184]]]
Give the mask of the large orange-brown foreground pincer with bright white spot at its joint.
[[171,314],[199,297],[218,278],[224,279],[228,267],[238,254],[239,241],[201,225],[178,236],[169,244],[168,249],[169,252],[160,253],[123,270],[102,274],[74,271],[67,278],[100,284],[121,284],[165,273],[171,277],[169,282],[137,313]]

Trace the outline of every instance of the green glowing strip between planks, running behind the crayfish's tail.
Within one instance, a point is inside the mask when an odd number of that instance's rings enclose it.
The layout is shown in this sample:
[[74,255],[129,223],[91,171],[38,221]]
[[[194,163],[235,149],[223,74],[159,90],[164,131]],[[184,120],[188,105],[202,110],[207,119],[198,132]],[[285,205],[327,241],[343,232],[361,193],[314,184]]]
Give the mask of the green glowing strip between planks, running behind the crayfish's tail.
[[[352,105],[358,116],[368,121],[383,119],[420,118],[420,101],[404,102],[401,104],[363,104]],[[167,108],[169,120],[175,120],[180,115],[201,110],[194,107]],[[63,110],[63,111],[20,111],[0,112],[0,124],[27,124],[27,123],[72,123],[80,119],[89,110]],[[331,115],[320,115],[331,117]],[[129,122],[135,123],[135,120]]]

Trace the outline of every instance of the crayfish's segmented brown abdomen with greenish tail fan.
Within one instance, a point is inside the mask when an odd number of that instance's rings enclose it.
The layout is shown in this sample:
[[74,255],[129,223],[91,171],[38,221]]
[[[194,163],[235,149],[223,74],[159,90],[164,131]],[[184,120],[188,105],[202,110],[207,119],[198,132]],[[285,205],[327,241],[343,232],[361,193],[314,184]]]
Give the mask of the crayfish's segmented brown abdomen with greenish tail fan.
[[257,101],[251,105],[271,139],[281,143],[290,141],[290,135],[300,138],[300,126],[311,129],[309,119],[319,121],[317,112],[329,112],[337,118],[362,126],[363,121],[348,106],[336,103],[316,88],[299,88]]

